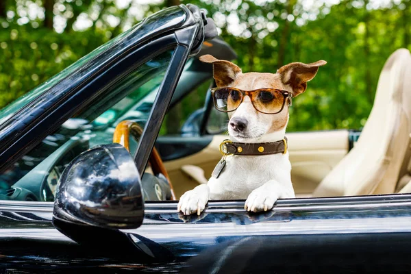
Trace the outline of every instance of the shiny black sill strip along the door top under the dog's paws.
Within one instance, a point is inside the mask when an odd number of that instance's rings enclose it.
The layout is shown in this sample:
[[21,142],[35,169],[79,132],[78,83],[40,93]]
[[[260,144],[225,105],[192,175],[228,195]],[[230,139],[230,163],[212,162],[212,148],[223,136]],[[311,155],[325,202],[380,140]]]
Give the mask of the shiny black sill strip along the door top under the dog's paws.
[[[177,212],[178,201],[145,201],[146,214],[175,214]],[[219,212],[219,213],[239,213],[242,212],[247,216],[258,216],[258,213],[247,212],[244,210],[245,200],[211,200],[204,212]],[[340,208],[348,208],[356,210],[357,208],[373,206],[410,206],[411,193],[399,194],[384,194],[384,195],[358,195],[358,196],[341,196],[341,197],[309,197],[309,198],[289,198],[278,199],[273,207],[273,212],[288,211],[288,210],[316,210],[321,212],[330,212]],[[32,212],[38,211],[45,214],[52,214],[53,202],[51,201],[13,201],[0,200],[0,211],[16,211],[16,212]],[[267,212],[260,212],[262,219]],[[187,216],[187,222],[195,223],[200,221],[202,216],[192,214]],[[182,223],[184,224],[184,223]]]

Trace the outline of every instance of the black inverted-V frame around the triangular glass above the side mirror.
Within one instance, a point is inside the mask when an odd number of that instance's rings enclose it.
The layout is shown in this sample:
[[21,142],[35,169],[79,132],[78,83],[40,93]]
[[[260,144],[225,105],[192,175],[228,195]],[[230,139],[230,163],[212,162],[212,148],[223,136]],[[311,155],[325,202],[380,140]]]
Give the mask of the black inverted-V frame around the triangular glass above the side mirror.
[[[202,23],[202,21],[200,22]],[[138,66],[165,51],[173,49],[171,61],[169,66],[167,66],[162,84],[160,84],[155,101],[153,102],[153,108],[151,108],[145,129],[140,137],[138,148],[134,154],[136,166],[140,174],[144,174],[155,139],[160,132],[161,123],[158,123],[158,121],[164,120],[166,110],[169,107],[188,57],[190,54],[196,55],[199,51],[199,47],[197,46],[202,43],[202,41],[199,41],[199,39],[203,39],[203,36],[201,36],[202,27],[202,24],[195,23],[170,32],[158,39],[150,40],[147,44],[141,45],[137,49],[134,48],[132,52],[128,51],[127,54],[122,55],[121,58],[111,62],[111,66],[105,65],[103,69],[100,70],[100,75],[93,75],[95,77],[86,79],[86,81],[82,79],[80,88],[74,85],[72,88],[69,88],[69,90],[65,90],[66,94],[64,95],[64,99],[47,98],[47,95],[53,95],[53,92],[56,92],[57,88],[51,88],[51,90],[45,92],[44,97],[41,96],[34,99],[34,102],[45,99],[45,105],[41,109],[42,113],[36,117],[34,121],[29,121],[32,123],[24,123],[23,121],[21,124],[32,127],[25,133],[20,134],[21,136],[16,134],[18,140],[10,147],[6,149],[4,149],[4,147],[0,148],[0,159],[7,159],[7,161],[3,162],[0,160],[0,172],[7,169],[11,164],[14,164],[24,153],[33,149],[49,134],[58,129],[62,123],[75,116],[76,113],[88,108],[88,105],[92,104],[94,99],[112,85],[118,83],[124,77],[127,77],[127,75],[132,73]],[[115,77],[111,79],[110,75],[114,75]],[[58,119],[53,121],[53,117],[56,116]],[[8,129],[12,128],[8,127]],[[0,130],[0,137],[1,135],[2,132]],[[5,135],[7,136],[7,134]],[[10,135],[12,136],[13,134]],[[32,136],[36,136],[36,138],[32,138]],[[19,144],[21,143],[23,143],[23,145],[20,147]],[[22,147],[23,149],[21,149]]]

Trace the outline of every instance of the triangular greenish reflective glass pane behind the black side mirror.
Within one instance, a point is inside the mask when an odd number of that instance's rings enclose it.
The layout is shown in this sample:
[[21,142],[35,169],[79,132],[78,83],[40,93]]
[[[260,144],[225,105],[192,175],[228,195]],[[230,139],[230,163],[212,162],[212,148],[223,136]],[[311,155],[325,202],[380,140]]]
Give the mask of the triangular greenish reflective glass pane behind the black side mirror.
[[[119,117],[144,127],[172,55],[165,51],[139,66],[0,173],[0,199],[53,201],[64,167],[83,151],[112,143]],[[138,140],[130,140],[130,151]]]

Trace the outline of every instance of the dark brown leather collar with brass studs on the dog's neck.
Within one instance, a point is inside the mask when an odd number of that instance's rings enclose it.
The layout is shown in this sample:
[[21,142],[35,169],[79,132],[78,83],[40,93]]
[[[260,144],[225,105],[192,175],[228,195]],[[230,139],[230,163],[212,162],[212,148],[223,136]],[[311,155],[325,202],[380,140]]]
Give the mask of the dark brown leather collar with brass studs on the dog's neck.
[[287,153],[288,142],[287,138],[277,142],[232,142],[224,140],[220,144],[220,152],[223,155],[269,155],[277,153]]

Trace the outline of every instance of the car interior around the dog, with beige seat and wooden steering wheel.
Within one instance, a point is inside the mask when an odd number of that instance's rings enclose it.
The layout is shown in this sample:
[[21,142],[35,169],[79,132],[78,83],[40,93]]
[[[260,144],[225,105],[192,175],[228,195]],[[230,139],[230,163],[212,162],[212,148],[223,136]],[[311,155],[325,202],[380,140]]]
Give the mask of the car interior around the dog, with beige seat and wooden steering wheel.
[[[228,54],[223,52],[227,60],[235,59],[234,51],[219,39],[205,42],[199,55],[212,53],[219,57],[224,47],[229,49]],[[169,112],[179,103],[192,103],[199,92],[205,99],[201,108],[186,115],[184,124],[175,132],[166,132],[162,127],[142,175],[147,201],[178,199],[187,190],[206,184],[221,159],[219,145],[227,139],[228,117],[212,105],[211,66],[201,66],[199,55],[188,60]],[[151,61],[147,66],[152,68],[156,63]],[[138,77],[144,75],[140,72]],[[410,52],[395,51],[379,76],[373,109],[360,134],[348,129],[286,134],[296,197],[411,192],[410,75]],[[161,83],[160,76],[140,86],[138,92],[123,91],[130,86],[127,80],[119,91],[126,96],[113,101],[108,110],[92,119],[79,116],[66,121],[60,132],[43,140],[43,147],[36,150],[37,158],[26,155],[14,166],[20,175],[15,176],[12,169],[0,174],[0,199],[53,201],[64,167],[95,145],[119,142],[133,155]],[[70,140],[62,137],[65,135],[71,136]],[[44,149],[45,145],[58,149],[51,153]],[[41,186],[32,184],[36,180],[42,182]]]

